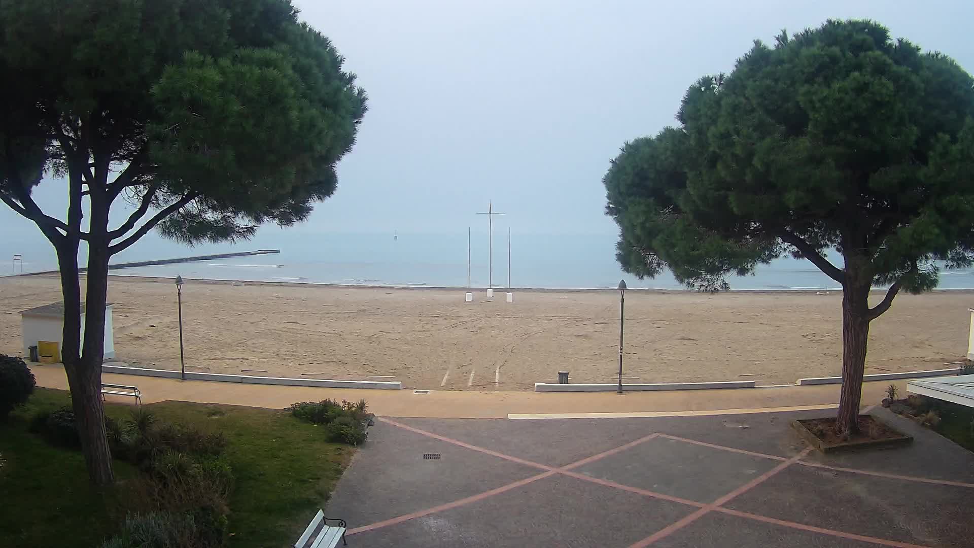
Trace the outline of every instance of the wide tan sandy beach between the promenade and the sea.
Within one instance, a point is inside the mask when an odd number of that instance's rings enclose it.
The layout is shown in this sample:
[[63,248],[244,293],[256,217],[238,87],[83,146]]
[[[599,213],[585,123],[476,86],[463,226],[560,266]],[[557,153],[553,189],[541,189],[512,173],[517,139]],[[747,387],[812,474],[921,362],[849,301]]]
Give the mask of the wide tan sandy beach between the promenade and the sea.
[[[171,280],[113,276],[108,296],[116,360],[178,370]],[[20,310],[59,299],[54,277],[0,278],[0,352],[21,354]],[[972,303],[965,292],[901,294],[872,325],[866,372],[957,361]],[[627,292],[624,380],[839,374],[841,306],[837,293]],[[519,291],[511,304],[481,291],[465,303],[449,290],[187,280],[183,322],[188,371],[452,390],[530,390],[558,371],[612,382],[618,371],[618,292]]]

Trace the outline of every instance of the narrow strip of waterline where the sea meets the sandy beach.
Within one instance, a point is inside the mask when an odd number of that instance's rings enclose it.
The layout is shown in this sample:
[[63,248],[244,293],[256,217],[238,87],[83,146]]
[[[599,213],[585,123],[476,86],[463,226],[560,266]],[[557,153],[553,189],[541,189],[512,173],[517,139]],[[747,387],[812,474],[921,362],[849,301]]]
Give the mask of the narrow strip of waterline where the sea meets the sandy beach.
[[[84,276],[84,273],[81,274]],[[19,277],[20,275],[16,276]],[[22,276],[56,276],[54,273],[35,273],[35,274],[23,274]],[[112,280],[122,280],[122,281],[142,281],[142,282],[153,282],[153,283],[172,283],[171,278],[163,278],[159,276],[137,276],[131,274],[109,274]],[[12,276],[15,277],[15,276]],[[261,287],[298,287],[298,288],[332,288],[332,289],[352,289],[352,290],[420,290],[420,291],[444,291],[444,292],[486,292],[487,288],[484,287],[457,287],[457,286],[393,286],[393,285],[369,285],[369,284],[335,284],[335,283],[325,283],[325,282],[271,282],[266,280],[239,280],[239,279],[214,279],[214,278],[187,278],[183,277],[186,281],[192,281],[199,284],[216,284],[216,285],[235,285],[235,284],[245,284],[249,286],[261,286]],[[509,288],[510,293],[617,293],[618,290],[615,288]],[[508,288],[494,288],[495,292],[507,293]],[[665,294],[699,294],[704,292],[699,292],[693,289],[685,288],[628,288],[627,291],[630,292],[640,292],[640,293],[665,293]],[[882,294],[885,293],[884,288],[874,288],[872,293]],[[955,294],[974,294],[974,288],[957,288],[957,289],[934,289],[934,293],[955,293]],[[744,294],[842,294],[841,288],[810,288],[810,289],[780,289],[780,290],[768,290],[768,289],[733,289],[727,291],[717,292],[719,294],[733,294],[733,293],[744,293]]]

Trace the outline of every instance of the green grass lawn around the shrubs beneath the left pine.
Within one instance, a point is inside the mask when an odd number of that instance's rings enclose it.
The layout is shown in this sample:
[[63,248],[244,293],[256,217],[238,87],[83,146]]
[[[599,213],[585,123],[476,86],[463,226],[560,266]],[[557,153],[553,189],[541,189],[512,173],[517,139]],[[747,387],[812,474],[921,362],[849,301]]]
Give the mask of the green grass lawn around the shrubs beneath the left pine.
[[[52,447],[27,432],[26,419],[68,403],[67,392],[39,388],[24,410],[0,424],[0,546],[97,546],[125,509],[111,490],[89,486],[80,451]],[[288,546],[323,506],[354,449],[324,441],[322,429],[285,411],[162,402],[158,418],[221,431],[237,479],[230,498],[231,547]],[[106,406],[115,418],[131,407]],[[115,462],[124,485],[136,472]]]

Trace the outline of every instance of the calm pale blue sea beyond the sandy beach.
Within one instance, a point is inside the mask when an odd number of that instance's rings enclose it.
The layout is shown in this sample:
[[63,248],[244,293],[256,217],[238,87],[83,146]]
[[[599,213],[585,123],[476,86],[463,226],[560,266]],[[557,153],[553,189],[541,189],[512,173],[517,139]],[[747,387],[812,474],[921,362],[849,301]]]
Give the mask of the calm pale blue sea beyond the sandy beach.
[[[615,288],[625,279],[630,288],[684,289],[669,274],[637,280],[622,272],[615,259],[612,235],[514,234],[508,262],[507,235],[494,235],[495,287]],[[113,262],[128,262],[199,254],[280,249],[262,254],[158,266],[113,270],[116,275],[204,278],[319,284],[377,286],[468,285],[468,236],[456,234],[309,234],[277,231],[238,245],[194,248],[147,237]],[[12,261],[21,254],[21,261]],[[835,260],[837,257],[832,257]],[[6,260],[4,260],[6,259]],[[488,238],[473,233],[470,240],[469,283],[486,287],[489,279]],[[0,273],[37,272],[56,268],[55,254],[41,237],[0,243]],[[941,289],[974,289],[974,273],[942,272]],[[760,267],[753,276],[733,277],[735,290],[838,290],[838,285],[811,263],[780,258]]]

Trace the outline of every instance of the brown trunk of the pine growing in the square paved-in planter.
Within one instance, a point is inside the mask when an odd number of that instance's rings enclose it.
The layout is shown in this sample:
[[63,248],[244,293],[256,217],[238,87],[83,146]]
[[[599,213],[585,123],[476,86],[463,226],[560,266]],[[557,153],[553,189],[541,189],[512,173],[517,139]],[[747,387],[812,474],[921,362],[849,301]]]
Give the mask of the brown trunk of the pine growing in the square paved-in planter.
[[843,391],[836,420],[839,433],[859,432],[859,403],[869,340],[869,290],[869,285],[843,288]]

